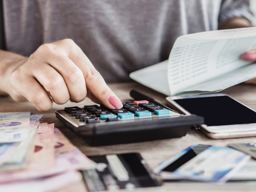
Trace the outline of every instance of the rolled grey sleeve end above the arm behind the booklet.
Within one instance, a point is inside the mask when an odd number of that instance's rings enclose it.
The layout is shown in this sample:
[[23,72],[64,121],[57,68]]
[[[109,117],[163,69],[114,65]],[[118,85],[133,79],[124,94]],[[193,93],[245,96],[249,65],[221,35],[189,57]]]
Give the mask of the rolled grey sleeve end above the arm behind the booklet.
[[243,17],[252,22],[254,16],[249,2],[250,0],[222,0],[218,17],[219,25],[233,17]]

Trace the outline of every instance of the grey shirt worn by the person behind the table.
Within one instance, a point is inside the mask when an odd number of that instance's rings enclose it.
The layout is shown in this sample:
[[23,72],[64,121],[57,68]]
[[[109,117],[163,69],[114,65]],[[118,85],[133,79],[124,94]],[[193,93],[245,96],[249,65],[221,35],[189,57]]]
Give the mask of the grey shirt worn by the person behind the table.
[[106,81],[168,59],[175,39],[251,19],[249,0],[3,0],[5,44],[24,56],[71,38]]

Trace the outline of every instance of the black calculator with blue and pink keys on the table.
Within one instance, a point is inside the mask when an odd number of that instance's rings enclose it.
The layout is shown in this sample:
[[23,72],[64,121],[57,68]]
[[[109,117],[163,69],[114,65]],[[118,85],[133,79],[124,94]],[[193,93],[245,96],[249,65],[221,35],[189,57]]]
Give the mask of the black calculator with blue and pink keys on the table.
[[185,136],[197,115],[183,115],[147,100],[122,102],[122,109],[104,105],[66,107],[56,117],[91,146],[112,145]]

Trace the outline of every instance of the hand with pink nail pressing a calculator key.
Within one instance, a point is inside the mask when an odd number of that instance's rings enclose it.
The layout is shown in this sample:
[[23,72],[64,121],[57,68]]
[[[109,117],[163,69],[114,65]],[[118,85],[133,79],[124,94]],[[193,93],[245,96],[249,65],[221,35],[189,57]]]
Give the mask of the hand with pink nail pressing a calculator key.
[[86,97],[110,109],[123,106],[71,39],[41,45],[29,58],[19,61],[7,78],[3,91],[16,101],[26,98],[39,111],[51,109],[52,100],[64,104]]

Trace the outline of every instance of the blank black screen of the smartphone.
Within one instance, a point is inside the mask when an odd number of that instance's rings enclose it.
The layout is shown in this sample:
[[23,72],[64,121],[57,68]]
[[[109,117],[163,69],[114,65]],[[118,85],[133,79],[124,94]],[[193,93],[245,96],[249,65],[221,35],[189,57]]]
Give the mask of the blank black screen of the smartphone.
[[256,123],[256,112],[226,95],[174,101],[189,113],[203,116],[207,126]]

